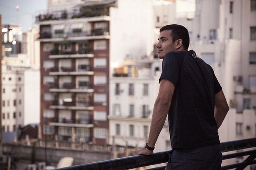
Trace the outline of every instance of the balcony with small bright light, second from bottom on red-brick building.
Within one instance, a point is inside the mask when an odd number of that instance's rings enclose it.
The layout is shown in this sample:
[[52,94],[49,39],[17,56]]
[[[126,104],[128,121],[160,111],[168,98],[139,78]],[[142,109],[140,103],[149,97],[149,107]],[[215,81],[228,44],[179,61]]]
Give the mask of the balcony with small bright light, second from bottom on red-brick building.
[[69,110],[93,110],[94,107],[90,106],[90,103],[83,103],[81,102],[67,102],[67,101],[52,101],[49,109],[69,109]]

